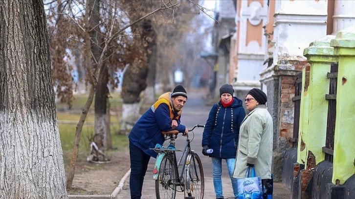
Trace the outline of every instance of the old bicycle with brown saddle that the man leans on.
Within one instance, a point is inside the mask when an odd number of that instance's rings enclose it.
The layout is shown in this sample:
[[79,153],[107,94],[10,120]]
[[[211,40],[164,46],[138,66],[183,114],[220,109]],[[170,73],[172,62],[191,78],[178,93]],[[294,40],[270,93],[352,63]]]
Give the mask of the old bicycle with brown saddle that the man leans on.
[[[192,129],[188,130],[193,133],[196,127],[205,125],[196,124]],[[201,159],[198,154],[191,150],[189,136],[186,136],[186,144],[182,155],[177,162],[175,148],[175,139],[178,131],[163,132],[165,140],[170,139],[169,146],[155,147],[158,156],[153,169],[153,179],[155,179],[156,199],[175,199],[176,192],[184,192],[184,199],[203,199],[204,193],[204,176]],[[178,168],[182,158],[185,157],[185,164],[182,165],[180,175]],[[179,187],[179,190],[178,190]],[[187,196],[186,196],[187,195]]]

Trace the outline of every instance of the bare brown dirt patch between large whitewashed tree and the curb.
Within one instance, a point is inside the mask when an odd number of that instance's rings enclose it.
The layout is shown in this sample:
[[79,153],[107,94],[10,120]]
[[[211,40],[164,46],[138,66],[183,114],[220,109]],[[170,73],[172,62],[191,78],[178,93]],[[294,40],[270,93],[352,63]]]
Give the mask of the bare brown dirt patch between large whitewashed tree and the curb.
[[77,161],[72,189],[68,195],[111,195],[122,177],[130,169],[129,151],[107,154],[111,162],[105,164]]

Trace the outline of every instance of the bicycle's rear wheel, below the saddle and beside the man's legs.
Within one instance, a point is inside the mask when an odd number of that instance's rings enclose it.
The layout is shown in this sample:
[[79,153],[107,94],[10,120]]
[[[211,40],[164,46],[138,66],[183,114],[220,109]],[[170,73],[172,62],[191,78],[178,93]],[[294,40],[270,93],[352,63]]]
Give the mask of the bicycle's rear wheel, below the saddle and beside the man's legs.
[[177,182],[177,166],[171,156],[165,155],[160,163],[158,178],[155,180],[156,199],[175,199]]

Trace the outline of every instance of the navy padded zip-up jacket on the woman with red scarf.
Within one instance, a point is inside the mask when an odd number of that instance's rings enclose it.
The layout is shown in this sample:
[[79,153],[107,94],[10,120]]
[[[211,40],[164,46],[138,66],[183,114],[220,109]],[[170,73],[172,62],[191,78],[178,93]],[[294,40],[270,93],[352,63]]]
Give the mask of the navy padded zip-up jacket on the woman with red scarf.
[[211,157],[236,158],[239,128],[245,117],[242,100],[233,97],[233,103],[223,107],[222,102],[214,104],[208,115],[202,135],[202,146],[213,149]]

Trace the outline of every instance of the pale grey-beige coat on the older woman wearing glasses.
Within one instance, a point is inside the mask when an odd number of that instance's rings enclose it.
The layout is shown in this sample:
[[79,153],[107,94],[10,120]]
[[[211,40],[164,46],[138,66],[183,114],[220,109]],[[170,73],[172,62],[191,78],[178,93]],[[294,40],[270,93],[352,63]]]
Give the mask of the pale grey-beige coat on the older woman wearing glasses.
[[256,176],[271,179],[272,118],[265,105],[258,105],[245,116],[239,134],[233,177],[245,178],[246,163],[254,164]]

